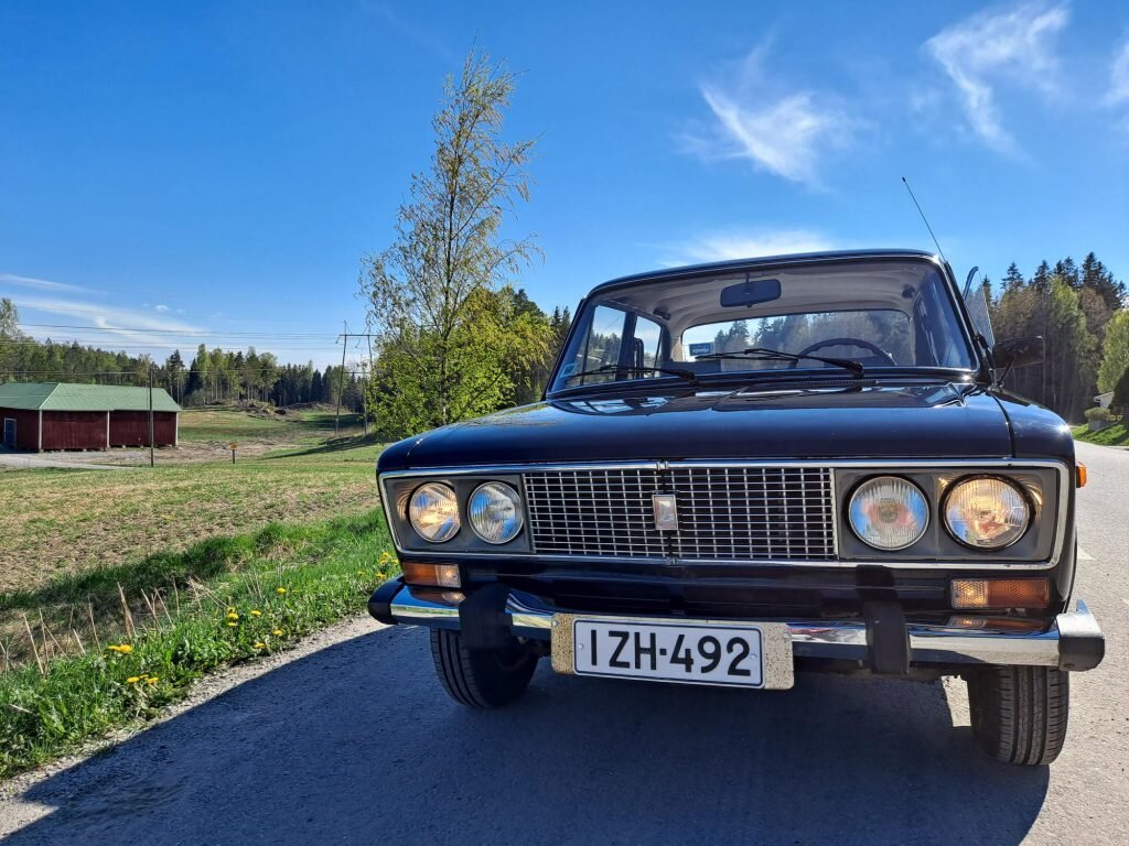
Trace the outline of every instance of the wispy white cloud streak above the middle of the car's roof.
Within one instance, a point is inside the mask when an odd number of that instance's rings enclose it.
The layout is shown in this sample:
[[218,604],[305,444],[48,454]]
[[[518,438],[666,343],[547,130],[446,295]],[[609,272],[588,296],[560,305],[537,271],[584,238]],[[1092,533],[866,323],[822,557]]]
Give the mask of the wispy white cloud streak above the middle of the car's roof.
[[764,73],[767,46],[754,50],[723,81],[703,83],[714,122],[684,138],[688,151],[706,159],[747,159],[770,174],[819,185],[819,165],[858,126],[842,103],[826,94],[786,89]]

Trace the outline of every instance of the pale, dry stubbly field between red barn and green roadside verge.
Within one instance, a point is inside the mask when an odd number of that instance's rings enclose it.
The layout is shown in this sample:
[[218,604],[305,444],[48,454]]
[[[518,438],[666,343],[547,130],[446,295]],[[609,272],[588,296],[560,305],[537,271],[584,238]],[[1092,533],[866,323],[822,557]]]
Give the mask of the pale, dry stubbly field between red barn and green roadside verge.
[[[350,417],[347,431],[355,423]],[[0,594],[212,536],[357,514],[377,503],[373,465],[380,448],[358,435],[332,439],[332,413],[274,421],[186,412],[181,425],[189,442],[238,440],[259,449],[235,465],[225,450],[183,464],[172,460],[174,450],[161,450],[155,468],[5,473]]]

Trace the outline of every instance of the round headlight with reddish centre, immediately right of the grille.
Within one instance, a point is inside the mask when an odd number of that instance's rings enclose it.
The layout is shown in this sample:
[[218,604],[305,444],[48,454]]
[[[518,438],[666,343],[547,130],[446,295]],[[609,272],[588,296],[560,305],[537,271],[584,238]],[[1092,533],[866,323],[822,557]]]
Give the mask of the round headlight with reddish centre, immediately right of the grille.
[[904,549],[925,535],[929,503],[912,482],[898,476],[867,479],[850,497],[850,527],[875,549]]

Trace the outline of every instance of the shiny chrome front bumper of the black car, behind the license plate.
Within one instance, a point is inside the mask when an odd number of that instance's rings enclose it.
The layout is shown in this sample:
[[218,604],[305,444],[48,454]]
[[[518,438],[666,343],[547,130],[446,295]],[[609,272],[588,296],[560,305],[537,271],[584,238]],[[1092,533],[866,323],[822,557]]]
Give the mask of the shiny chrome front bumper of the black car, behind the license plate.
[[[457,605],[421,599],[403,584],[390,583],[374,593],[369,611],[384,623],[461,627]],[[599,617],[598,614],[585,616]],[[505,623],[514,635],[550,641],[552,622],[552,611],[532,608],[513,594],[506,603]],[[1089,670],[1101,662],[1105,649],[1097,620],[1080,599],[1077,610],[1058,615],[1054,624],[1042,632],[918,624],[908,624],[907,628],[910,661],[916,664],[1015,664]],[[864,622],[788,620],[788,631],[796,658],[866,661],[869,655]]]

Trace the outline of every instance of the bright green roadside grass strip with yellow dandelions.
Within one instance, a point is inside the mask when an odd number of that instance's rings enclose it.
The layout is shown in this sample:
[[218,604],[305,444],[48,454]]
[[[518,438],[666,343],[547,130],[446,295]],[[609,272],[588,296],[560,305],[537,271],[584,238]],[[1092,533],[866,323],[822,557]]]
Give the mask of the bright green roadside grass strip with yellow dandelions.
[[[116,626],[103,617],[87,632],[85,654],[45,662],[43,675],[30,663],[0,676],[0,777],[156,716],[210,669],[286,649],[361,610],[395,571],[391,549],[383,515],[370,511],[270,525],[6,597],[9,610],[49,601],[81,607],[93,597],[100,616],[121,590],[134,608],[151,610],[130,615],[132,636],[124,613]],[[128,653],[107,649],[123,644]]]

